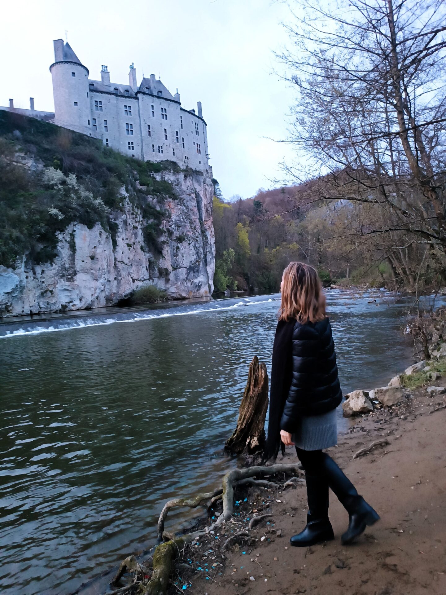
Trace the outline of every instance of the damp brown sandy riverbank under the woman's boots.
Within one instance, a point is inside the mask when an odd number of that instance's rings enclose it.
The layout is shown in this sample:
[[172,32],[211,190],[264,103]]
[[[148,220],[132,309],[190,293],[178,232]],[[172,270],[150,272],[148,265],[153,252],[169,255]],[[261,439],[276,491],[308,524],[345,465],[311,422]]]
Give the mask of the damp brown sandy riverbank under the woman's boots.
[[[435,384],[446,386],[446,381],[442,378]],[[266,504],[272,517],[250,532],[250,541],[228,549],[225,559],[210,556],[209,566],[216,565],[215,573],[206,574],[207,580],[203,573],[192,575],[187,591],[197,595],[445,595],[446,409],[429,412],[444,404],[446,396],[429,397],[425,389],[412,394],[404,405],[357,418],[338,447],[329,450],[381,516],[356,544],[341,546],[348,515],[330,494],[335,540],[310,548],[291,547],[288,540],[303,528],[307,507],[305,487],[288,488],[269,494],[271,505]],[[352,460],[357,450],[381,438],[389,444]],[[295,460],[290,449],[278,462]],[[252,488],[249,500],[260,502],[259,498],[258,488],[257,493]],[[263,541],[262,536],[266,536]]]

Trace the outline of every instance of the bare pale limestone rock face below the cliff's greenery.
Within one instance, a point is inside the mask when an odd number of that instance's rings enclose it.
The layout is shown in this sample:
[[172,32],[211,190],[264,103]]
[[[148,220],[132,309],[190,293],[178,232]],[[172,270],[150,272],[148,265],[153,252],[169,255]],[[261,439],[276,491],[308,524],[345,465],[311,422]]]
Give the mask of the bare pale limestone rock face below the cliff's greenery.
[[[0,316],[114,305],[147,284],[169,296],[210,296],[215,268],[211,170],[162,174],[175,199],[164,202],[159,250],[147,247],[145,221],[125,199],[112,212],[115,233],[71,223],[58,234],[54,261],[0,266]],[[155,200],[155,199],[154,199]],[[161,253],[160,253],[161,252]]]

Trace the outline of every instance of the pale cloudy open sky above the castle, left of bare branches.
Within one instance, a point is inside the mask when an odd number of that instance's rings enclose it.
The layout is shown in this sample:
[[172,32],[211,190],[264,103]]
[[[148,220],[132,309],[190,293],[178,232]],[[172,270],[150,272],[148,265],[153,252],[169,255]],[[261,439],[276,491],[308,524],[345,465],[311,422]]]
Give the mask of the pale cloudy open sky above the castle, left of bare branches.
[[[186,109],[203,104],[210,164],[226,199],[248,198],[283,179],[280,163],[294,92],[274,71],[287,43],[280,0],[21,0],[1,3],[0,105],[54,111],[49,65],[67,35],[90,79],[156,74]],[[66,32],[66,33],[65,33]]]

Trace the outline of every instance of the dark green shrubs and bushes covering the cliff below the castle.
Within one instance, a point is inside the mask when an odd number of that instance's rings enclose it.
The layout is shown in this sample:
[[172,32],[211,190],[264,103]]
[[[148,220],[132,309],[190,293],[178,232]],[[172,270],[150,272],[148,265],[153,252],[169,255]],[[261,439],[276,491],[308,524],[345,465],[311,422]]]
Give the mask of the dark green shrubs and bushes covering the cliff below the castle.
[[74,221],[100,223],[114,240],[112,214],[123,206],[123,187],[142,212],[147,248],[160,251],[163,203],[177,198],[155,177],[164,170],[180,168],[128,158],[84,134],[0,111],[0,264],[14,267],[25,253],[36,264],[51,261],[56,233]]

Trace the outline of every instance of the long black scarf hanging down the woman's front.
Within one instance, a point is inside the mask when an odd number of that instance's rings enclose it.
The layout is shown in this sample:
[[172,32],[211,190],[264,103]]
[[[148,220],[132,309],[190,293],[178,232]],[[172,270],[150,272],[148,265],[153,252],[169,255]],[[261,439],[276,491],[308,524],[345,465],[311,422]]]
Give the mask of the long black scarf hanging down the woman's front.
[[292,337],[296,320],[279,320],[272,347],[271,391],[269,396],[268,438],[266,439],[263,460],[276,459],[279,448],[285,454],[284,443],[280,439],[280,420],[293,378]]

